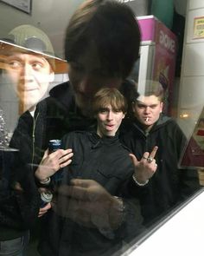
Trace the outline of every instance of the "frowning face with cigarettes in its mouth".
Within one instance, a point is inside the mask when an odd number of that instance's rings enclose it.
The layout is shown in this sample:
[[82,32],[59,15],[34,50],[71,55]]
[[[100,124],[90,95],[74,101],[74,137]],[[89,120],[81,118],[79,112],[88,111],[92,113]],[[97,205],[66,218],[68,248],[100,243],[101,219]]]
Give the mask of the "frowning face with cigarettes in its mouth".
[[155,95],[140,96],[138,101],[133,104],[132,109],[137,120],[144,127],[150,129],[163,111],[163,102]]

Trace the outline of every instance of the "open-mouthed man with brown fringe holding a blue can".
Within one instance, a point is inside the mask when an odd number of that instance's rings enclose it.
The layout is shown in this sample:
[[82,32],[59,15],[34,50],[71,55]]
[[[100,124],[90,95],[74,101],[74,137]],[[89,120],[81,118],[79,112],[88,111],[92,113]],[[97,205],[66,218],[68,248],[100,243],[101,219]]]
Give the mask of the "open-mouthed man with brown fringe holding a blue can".
[[[62,170],[53,210],[45,215],[41,255],[112,255],[123,240],[143,230],[138,203],[133,207],[123,194],[125,181],[134,173],[130,151],[118,139],[126,113],[124,96],[117,89],[100,89],[92,111],[96,128],[62,139],[62,148],[72,148],[73,157]],[[41,161],[38,177],[52,179],[50,161],[50,155]]]

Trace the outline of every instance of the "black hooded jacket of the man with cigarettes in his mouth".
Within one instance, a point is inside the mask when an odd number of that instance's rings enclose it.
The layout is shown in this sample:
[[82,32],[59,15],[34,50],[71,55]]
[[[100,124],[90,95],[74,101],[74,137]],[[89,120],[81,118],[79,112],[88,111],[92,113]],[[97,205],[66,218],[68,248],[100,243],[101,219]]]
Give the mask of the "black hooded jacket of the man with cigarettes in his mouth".
[[128,186],[131,194],[141,202],[144,223],[147,225],[159,220],[172,207],[194,194],[200,187],[198,174],[195,170],[178,168],[186,138],[173,119],[161,115],[149,133],[143,131],[137,120],[131,122],[129,129],[121,140],[137,160],[142,158],[145,151],[151,152],[158,146],[156,174],[144,187],[137,186],[132,179]]

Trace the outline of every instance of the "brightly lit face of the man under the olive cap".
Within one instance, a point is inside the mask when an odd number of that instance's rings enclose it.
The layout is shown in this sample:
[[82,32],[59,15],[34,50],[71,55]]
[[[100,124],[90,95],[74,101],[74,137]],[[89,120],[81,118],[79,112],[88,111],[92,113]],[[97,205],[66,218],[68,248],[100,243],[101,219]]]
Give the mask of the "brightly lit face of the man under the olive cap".
[[41,100],[53,81],[54,73],[49,62],[39,55],[14,53],[6,59],[7,73],[22,104],[23,111],[30,109]]

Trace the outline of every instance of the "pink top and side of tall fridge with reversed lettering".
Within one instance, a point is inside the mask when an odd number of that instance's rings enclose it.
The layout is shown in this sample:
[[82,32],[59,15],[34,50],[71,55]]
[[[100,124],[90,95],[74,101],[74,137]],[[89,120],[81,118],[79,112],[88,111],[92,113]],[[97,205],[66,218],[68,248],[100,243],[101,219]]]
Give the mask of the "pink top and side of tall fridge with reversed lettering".
[[138,23],[143,44],[148,41],[155,43],[151,79],[159,81],[163,85],[163,89],[165,89],[165,112],[171,115],[177,50],[176,36],[154,16],[139,17]]

